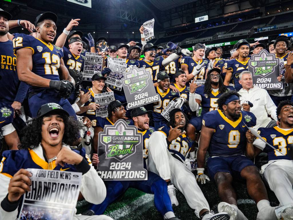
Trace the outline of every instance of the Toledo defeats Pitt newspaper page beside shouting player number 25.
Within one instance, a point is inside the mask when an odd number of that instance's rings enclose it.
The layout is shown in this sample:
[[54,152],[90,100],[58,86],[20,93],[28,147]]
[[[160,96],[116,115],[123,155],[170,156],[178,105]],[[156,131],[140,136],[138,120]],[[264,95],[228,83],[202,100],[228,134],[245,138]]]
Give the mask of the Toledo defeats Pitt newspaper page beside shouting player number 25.
[[97,53],[86,52],[86,58],[84,59],[84,72],[83,80],[91,81],[92,77],[96,73],[100,73],[103,69],[104,59]]

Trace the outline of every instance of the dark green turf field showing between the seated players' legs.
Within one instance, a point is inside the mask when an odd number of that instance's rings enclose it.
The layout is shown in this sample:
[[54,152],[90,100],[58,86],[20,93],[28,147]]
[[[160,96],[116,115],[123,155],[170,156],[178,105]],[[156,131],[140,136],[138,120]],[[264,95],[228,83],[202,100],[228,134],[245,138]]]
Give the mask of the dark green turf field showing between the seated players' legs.
[[[256,165],[260,167],[266,163],[266,155],[262,153],[256,158]],[[217,195],[217,187],[214,182],[209,182],[205,185],[200,184],[200,188],[204,193],[210,208],[217,212],[217,204],[220,202]],[[239,209],[245,214],[249,220],[255,220],[257,215],[257,208],[255,202],[249,197],[246,184],[235,182],[234,188],[237,193],[237,203]],[[269,200],[278,204],[275,194],[268,189]],[[197,219],[194,212],[188,206],[183,195],[176,190],[176,197],[179,206],[173,207],[175,215],[181,220]],[[87,202],[82,201],[78,203],[78,213],[85,211]],[[105,211],[105,214],[111,216],[113,219],[119,220],[161,220],[163,219],[159,212],[154,207],[154,195],[144,194],[136,189],[128,189],[126,193],[111,204]]]

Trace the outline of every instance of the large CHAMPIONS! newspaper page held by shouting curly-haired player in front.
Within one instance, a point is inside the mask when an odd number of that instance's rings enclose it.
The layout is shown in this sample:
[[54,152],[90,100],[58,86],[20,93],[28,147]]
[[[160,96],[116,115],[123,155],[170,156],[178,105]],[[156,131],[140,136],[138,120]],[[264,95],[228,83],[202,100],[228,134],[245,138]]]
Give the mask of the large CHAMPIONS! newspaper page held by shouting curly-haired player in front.
[[80,172],[27,169],[31,191],[23,196],[19,220],[72,220],[81,185]]

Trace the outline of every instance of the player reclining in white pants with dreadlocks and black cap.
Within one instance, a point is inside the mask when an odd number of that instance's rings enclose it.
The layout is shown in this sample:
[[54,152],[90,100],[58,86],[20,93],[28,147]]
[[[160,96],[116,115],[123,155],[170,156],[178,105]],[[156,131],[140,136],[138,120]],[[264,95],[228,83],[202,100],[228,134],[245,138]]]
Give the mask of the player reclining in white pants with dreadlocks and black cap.
[[[227,213],[210,212],[209,204],[197,185],[195,176],[185,164],[192,145],[192,141],[185,135],[187,116],[180,109],[173,109],[169,115],[168,126],[159,128],[149,138],[148,169],[160,175],[167,182],[172,204],[176,206],[179,204],[176,199],[175,186],[183,193],[188,205],[195,209],[195,214],[200,219],[230,219]],[[174,130],[178,133],[178,137],[171,141],[171,133]]]

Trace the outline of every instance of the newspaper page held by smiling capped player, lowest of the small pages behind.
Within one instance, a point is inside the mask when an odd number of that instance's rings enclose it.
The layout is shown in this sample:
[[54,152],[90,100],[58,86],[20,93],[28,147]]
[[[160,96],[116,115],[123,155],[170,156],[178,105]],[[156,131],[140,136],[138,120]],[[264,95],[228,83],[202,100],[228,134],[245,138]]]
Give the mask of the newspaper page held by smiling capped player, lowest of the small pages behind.
[[103,92],[95,94],[95,103],[100,105],[100,108],[96,110],[96,117],[106,118],[108,116],[108,104],[114,101],[114,92]]

